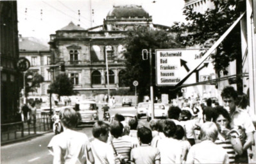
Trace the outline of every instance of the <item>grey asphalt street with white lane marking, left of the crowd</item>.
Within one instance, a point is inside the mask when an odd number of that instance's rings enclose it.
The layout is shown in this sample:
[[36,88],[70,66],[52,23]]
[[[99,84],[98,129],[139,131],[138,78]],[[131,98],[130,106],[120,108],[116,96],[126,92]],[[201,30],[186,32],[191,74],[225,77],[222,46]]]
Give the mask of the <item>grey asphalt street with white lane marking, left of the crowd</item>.
[[[99,106],[100,107],[100,106]],[[110,109],[110,115],[115,113],[136,113],[133,107],[121,107]],[[103,111],[99,108],[99,118],[103,118]],[[142,117],[139,120],[139,124],[148,126],[146,122],[146,117]],[[85,133],[89,139],[92,139],[92,126],[81,125],[76,128],[77,131]],[[25,140],[19,143],[12,143],[10,145],[4,145],[1,147],[1,163],[3,164],[27,164],[27,163],[52,163],[53,156],[47,149],[47,144],[53,138],[54,133],[46,133],[45,135],[32,138],[30,140]]]

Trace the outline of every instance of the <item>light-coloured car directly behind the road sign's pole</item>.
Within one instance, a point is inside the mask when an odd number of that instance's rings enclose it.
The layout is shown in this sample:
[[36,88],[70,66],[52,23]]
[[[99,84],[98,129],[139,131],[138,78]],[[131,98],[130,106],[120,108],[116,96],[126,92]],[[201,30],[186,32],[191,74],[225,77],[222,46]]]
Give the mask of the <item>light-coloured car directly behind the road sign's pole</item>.
[[[152,105],[149,104],[149,108],[147,111],[147,121],[151,120],[152,117]],[[168,106],[162,103],[156,103],[154,104],[154,112],[155,112],[155,119],[167,119],[167,112],[168,112]]]

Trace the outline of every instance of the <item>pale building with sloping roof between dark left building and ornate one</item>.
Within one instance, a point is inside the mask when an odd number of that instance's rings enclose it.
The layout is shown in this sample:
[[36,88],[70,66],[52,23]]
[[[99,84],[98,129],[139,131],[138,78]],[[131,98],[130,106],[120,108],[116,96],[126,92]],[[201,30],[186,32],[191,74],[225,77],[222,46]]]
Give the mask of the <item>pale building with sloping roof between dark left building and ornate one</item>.
[[28,94],[28,99],[37,98],[44,100],[47,97],[47,89],[52,79],[52,70],[49,66],[51,65],[49,47],[33,37],[22,37],[19,35],[19,56],[30,61],[30,69],[28,71],[37,72],[44,78],[44,82],[40,83],[40,87],[36,88],[35,92]]

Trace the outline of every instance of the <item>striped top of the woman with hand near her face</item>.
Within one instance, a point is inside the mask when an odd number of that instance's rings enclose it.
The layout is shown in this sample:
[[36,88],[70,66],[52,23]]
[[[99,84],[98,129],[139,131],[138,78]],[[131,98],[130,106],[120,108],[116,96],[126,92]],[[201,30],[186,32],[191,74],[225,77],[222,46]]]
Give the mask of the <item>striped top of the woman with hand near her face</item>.
[[225,149],[226,153],[228,153],[229,163],[235,163],[235,150],[230,142],[230,139],[225,139],[219,135],[215,143]]

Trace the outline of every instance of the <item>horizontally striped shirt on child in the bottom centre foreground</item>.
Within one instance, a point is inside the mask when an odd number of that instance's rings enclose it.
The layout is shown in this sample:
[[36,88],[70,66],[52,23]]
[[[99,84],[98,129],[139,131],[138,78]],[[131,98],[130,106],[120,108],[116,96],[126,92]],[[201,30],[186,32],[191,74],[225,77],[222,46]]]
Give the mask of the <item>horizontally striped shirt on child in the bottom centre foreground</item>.
[[[123,136],[119,138],[114,138],[112,140],[112,143],[114,145],[114,149],[117,152],[117,154],[120,154],[123,156],[124,160],[128,161],[130,160],[131,151],[132,151],[132,142],[131,140],[128,140],[127,138],[123,138]],[[111,144],[111,143],[110,143]],[[117,155],[115,155],[115,163],[120,163],[120,161],[117,159]]]

